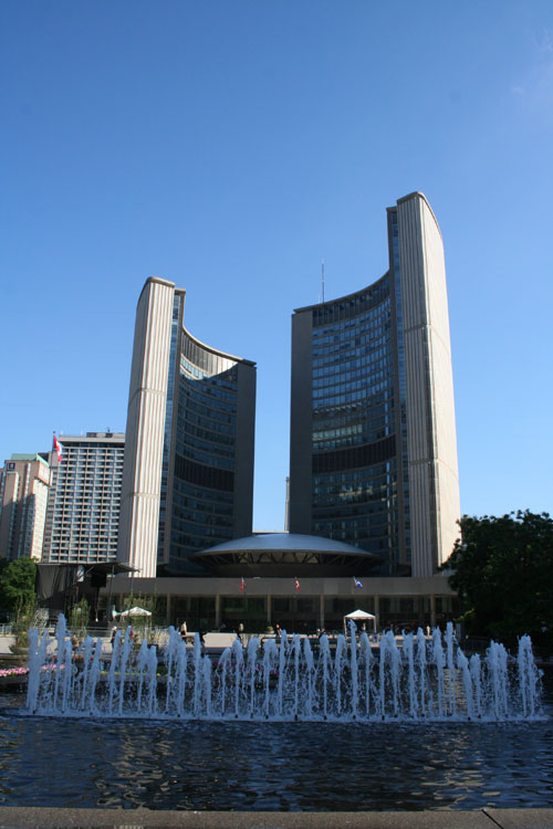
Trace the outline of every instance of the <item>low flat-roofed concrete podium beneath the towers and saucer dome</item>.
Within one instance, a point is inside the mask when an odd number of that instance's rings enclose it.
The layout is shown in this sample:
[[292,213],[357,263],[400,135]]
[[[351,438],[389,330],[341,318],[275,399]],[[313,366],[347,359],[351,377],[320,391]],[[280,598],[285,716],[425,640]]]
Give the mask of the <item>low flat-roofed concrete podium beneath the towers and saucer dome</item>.
[[455,618],[456,595],[447,577],[389,578],[363,577],[362,587],[353,578],[295,579],[226,577],[140,578],[114,576],[103,589],[103,601],[117,610],[124,599],[134,596],[155,596],[161,606],[167,625],[187,620],[189,630],[238,629],[260,632],[265,625],[279,622],[289,631],[314,632],[316,628],[340,629],[345,613],[356,609],[376,616],[377,629],[395,626],[444,625]]

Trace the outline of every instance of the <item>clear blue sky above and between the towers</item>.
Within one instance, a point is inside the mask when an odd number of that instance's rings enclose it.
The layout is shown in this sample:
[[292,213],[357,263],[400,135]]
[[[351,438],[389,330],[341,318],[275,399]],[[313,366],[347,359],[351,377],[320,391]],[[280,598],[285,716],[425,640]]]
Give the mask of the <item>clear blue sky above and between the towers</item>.
[[290,317],[446,250],[461,507],[552,507],[553,3],[3,0],[0,462],[125,429],[136,302],[187,290],[258,364],[254,528],[281,529]]

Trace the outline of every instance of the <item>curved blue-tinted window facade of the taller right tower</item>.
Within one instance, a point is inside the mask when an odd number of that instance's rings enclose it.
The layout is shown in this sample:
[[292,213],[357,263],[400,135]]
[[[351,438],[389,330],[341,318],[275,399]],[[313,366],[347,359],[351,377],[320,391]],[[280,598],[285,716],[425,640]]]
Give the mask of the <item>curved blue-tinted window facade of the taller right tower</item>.
[[312,532],[399,558],[389,276],[313,308]]

